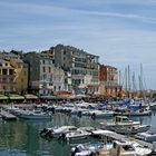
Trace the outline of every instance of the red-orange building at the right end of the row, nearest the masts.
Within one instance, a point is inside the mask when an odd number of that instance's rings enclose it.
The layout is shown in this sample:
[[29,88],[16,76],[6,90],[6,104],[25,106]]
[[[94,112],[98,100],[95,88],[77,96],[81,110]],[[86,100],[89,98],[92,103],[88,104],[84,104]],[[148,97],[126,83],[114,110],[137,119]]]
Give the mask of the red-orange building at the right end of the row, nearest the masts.
[[121,86],[118,84],[118,69],[116,67],[100,65],[99,80],[99,92],[101,95],[116,97],[121,91]]

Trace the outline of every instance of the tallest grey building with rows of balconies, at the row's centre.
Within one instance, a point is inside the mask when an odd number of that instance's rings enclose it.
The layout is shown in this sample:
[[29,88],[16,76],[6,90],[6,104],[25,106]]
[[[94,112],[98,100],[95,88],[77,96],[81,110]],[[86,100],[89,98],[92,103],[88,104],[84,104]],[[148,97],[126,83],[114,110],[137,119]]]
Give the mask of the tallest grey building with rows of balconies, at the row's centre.
[[56,65],[60,65],[66,72],[71,74],[71,86],[75,94],[98,92],[98,56],[64,45],[57,45],[53,50]]

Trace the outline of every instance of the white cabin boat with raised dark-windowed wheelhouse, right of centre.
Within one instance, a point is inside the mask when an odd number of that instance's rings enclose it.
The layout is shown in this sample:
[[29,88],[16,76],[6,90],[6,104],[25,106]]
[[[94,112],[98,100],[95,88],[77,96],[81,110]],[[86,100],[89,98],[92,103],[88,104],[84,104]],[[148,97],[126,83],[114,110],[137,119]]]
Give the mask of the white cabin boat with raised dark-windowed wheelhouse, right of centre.
[[130,120],[127,116],[116,116],[114,121],[100,123],[99,128],[115,130],[116,128],[119,129],[120,127],[130,127],[135,125],[140,125],[140,123]]

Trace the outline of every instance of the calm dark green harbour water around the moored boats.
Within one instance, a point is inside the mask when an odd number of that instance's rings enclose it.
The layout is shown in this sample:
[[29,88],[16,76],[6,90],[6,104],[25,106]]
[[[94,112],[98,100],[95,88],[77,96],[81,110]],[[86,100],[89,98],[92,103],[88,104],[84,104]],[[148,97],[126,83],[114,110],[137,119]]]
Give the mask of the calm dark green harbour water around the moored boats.
[[[76,144],[57,139],[45,139],[39,131],[46,127],[75,125],[97,127],[99,121],[113,118],[91,119],[90,117],[68,116],[55,114],[49,121],[30,120],[0,120],[0,156],[70,156],[70,148]],[[156,131],[156,113],[152,116],[133,117],[143,124],[152,125],[150,130]],[[87,140],[90,142],[90,140]]]

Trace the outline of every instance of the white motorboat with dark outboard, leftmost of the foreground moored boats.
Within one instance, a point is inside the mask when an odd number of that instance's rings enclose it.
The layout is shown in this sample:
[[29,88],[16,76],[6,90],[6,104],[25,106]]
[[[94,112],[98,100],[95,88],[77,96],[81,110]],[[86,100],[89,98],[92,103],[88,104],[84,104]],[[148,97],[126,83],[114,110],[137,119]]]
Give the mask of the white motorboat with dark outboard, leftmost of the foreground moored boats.
[[40,131],[41,136],[45,137],[59,137],[62,134],[68,134],[70,131],[77,130],[76,126],[61,126],[61,127],[51,127],[51,128],[43,128]]

